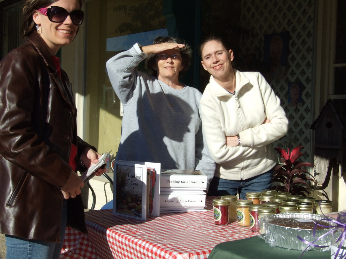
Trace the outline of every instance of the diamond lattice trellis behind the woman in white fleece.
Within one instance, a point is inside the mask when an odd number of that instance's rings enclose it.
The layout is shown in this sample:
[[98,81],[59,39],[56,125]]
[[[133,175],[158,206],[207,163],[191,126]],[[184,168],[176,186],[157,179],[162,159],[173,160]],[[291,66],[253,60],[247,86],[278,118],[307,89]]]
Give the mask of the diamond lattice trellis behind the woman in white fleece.
[[[287,135],[274,146],[290,148],[303,146],[301,161],[313,162],[312,130],[312,56],[313,56],[313,0],[243,0],[240,25],[247,29],[249,37],[240,42],[243,55],[260,52],[263,60],[264,35],[289,31],[289,56],[287,76],[271,81],[271,86],[281,99],[281,105],[289,118]],[[302,107],[288,107],[289,82],[302,82]]]

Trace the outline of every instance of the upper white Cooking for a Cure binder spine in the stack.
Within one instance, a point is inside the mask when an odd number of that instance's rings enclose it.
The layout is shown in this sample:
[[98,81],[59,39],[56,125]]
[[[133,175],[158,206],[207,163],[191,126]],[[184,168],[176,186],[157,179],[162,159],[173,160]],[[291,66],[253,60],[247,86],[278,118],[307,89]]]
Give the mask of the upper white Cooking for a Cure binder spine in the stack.
[[161,174],[161,187],[207,188],[206,175]]

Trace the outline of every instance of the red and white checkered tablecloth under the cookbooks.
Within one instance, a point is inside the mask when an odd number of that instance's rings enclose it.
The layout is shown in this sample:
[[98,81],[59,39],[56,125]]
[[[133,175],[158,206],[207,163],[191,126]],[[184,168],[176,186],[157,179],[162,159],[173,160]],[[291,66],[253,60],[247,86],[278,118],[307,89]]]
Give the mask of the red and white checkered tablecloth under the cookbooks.
[[140,221],[113,215],[112,209],[85,213],[88,234],[66,229],[61,258],[204,259],[218,243],[253,237],[237,222],[217,226],[212,200],[207,211],[162,213]]

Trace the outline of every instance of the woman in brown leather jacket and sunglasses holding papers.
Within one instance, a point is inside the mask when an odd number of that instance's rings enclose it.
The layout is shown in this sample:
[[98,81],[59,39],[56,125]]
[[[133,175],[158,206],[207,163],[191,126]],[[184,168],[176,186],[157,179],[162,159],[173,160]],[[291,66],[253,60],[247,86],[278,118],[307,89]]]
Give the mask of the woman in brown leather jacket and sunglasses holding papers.
[[0,63],[0,232],[8,259],[59,258],[66,225],[86,232],[76,171],[100,154],[77,136],[71,83],[55,57],[75,37],[81,6],[26,0],[27,41]]

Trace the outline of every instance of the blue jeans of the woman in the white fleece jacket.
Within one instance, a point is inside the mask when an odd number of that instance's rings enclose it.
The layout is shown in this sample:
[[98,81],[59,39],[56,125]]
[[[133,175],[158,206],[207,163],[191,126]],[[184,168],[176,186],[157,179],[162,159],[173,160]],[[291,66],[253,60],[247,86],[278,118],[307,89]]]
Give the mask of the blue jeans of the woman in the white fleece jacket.
[[208,196],[237,195],[239,193],[239,198],[246,200],[245,194],[247,192],[269,190],[272,186],[272,179],[273,169],[258,176],[240,181],[214,177],[210,182]]

